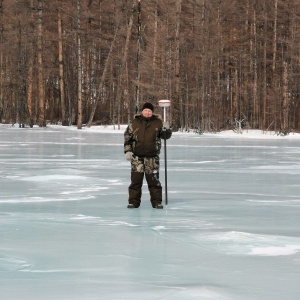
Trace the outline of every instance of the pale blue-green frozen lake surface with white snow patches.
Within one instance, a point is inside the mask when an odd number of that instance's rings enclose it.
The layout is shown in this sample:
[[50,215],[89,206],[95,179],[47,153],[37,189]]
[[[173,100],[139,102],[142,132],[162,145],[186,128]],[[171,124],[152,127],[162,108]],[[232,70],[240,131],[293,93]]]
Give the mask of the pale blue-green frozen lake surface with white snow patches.
[[168,208],[128,210],[123,129],[1,125],[0,299],[300,299],[299,136],[167,150]]

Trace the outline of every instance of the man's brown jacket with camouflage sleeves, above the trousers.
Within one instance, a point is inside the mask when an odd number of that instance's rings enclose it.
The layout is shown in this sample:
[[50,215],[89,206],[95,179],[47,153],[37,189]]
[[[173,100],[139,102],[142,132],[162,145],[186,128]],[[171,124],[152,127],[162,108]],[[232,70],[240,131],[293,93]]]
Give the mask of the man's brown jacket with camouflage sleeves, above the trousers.
[[160,115],[145,118],[136,115],[124,132],[124,153],[131,151],[139,157],[159,155],[161,139],[172,135],[170,129],[163,131]]

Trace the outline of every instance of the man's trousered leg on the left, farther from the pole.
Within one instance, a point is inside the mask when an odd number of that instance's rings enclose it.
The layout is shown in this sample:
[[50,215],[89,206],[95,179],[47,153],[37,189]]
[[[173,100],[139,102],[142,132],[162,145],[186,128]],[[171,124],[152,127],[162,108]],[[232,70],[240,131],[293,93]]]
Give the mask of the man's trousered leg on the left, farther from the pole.
[[142,186],[144,178],[144,160],[135,157],[131,161],[131,184],[128,188],[128,203],[133,204],[135,208],[141,204]]

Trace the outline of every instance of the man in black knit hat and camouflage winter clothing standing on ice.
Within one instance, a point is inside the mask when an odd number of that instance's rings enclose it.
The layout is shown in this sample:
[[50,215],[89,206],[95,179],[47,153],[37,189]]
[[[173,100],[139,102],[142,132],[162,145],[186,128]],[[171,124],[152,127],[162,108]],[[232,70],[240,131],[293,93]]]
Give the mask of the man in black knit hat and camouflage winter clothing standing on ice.
[[168,122],[153,114],[154,107],[146,102],[142,113],[134,116],[124,132],[125,158],[131,162],[131,184],[128,188],[127,208],[141,204],[144,174],[153,208],[162,209],[162,186],[159,181],[159,154],[161,139],[169,139],[172,130]]

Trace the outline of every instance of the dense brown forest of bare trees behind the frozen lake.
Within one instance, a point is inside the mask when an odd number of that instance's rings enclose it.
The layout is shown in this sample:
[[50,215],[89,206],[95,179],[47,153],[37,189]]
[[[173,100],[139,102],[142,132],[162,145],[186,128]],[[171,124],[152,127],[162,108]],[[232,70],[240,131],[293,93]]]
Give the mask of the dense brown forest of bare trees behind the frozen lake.
[[299,0],[0,0],[0,65],[2,123],[300,131]]

